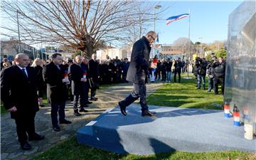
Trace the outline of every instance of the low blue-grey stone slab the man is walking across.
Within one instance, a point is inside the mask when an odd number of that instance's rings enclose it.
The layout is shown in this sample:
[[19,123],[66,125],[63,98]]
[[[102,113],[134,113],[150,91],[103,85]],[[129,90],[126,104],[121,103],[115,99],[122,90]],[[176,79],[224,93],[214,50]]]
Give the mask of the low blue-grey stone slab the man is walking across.
[[223,117],[222,110],[149,106],[156,117],[142,117],[139,105],[106,110],[77,132],[78,143],[119,154],[156,154],[167,151],[256,152],[256,139],[244,138],[243,127]]

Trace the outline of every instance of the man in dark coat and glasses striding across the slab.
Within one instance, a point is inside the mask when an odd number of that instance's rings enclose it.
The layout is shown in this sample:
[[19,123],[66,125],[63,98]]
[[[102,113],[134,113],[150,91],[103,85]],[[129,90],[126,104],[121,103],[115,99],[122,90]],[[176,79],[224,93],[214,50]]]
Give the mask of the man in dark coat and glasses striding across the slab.
[[139,98],[142,107],[142,116],[154,116],[146,105],[146,78],[149,70],[149,53],[151,44],[156,39],[156,33],[149,31],[139,41],[134,43],[132,48],[131,62],[127,73],[127,80],[132,82],[134,90],[132,94],[119,102],[122,114],[127,115],[126,107]]

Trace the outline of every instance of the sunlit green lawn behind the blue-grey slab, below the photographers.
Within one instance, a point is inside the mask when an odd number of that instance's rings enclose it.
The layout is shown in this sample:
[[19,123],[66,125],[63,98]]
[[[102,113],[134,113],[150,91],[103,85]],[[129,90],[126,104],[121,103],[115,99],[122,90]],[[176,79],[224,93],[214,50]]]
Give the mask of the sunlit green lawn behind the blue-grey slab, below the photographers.
[[[174,75],[172,75],[174,76]],[[186,107],[186,108],[201,108],[220,110],[221,107],[215,107],[211,104],[223,104],[223,95],[214,95],[213,90],[207,92],[206,90],[196,89],[196,80],[183,79],[186,76],[182,75],[181,83],[175,82],[165,83],[163,87],[153,92],[147,97],[149,105],[161,105],[169,107]],[[192,75],[190,75],[192,77]],[[208,87],[208,79],[206,80],[206,87]],[[220,92],[220,88],[219,88]]]

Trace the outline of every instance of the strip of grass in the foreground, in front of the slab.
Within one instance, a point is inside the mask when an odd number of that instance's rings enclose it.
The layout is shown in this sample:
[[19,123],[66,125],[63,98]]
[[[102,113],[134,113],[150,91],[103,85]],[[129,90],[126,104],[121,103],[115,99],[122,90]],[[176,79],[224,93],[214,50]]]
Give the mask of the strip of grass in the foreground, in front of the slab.
[[110,151],[103,151],[102,149],[95,149],[90,146],[84,146],[76,142],[76,138],[72,137],[65,142],[58,144],[57,146],[49,149],[45,153],[34,157],[33,159],[50,159],[50,160],[76,160],[76,159],[88,159],[88,160],[153,160],[153,159],[256,159],[256,154],[249,154],[241,151],[219,151],[219,152],[203,152],[203,153],[190,153],[185,151],[173,151],[163,154],[152,154],[148,156],[138,156],[134,154],[114,154]]

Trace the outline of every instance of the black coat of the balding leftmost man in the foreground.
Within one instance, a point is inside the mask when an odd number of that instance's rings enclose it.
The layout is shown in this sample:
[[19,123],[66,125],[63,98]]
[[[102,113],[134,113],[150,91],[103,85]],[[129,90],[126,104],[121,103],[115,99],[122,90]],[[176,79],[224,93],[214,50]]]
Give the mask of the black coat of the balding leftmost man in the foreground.
[[39,110],[36,72],[31,67],[26,67],[26,70],[28,78],[17,65],[1,72],[1,101],[6,110],[17,108],[16,112],[11,112],[11,118],[26,117]]

